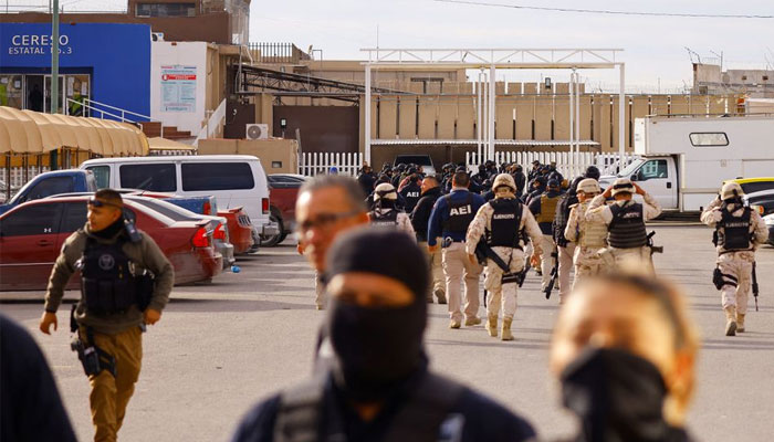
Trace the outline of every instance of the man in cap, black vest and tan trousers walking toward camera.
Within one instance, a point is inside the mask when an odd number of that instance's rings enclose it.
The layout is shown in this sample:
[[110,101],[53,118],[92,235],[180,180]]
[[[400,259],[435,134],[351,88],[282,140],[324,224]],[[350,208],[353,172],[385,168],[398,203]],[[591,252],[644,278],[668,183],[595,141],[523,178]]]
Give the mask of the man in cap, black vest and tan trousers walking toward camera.
[[[98,371],[87,372],[95,441],[116,440],[139,377],[140,326],[160,319],[175,283],[175,271],[156,242],[143,232],[127,232],[123,206],[121,194],[111,189],[88,200],[86,225],[65,240],[54,263],[40,322],[46,335],[52,325],[57,328],[56,309],[64,287],[80,270],[82,296],[74,318],[83,346],[95,347],[101,362]],[[153,288],[138,282],[145,270],[155,275]],[[143,290],[153,290],[147,306],[139,305],[148,295],[139,293]]]

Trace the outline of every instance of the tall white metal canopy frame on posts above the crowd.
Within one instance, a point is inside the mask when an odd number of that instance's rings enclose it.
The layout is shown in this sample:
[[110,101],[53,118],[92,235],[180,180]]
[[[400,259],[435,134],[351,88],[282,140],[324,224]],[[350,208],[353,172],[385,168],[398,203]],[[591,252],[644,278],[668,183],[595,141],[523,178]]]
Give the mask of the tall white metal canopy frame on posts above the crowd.
[[[571,168],[575,162],[573,152],[579,151],[579,126],[578,118],[579,91],[577,87],[577,70],[582,69],[615,69],[620,72],[619,101],[618,101],[618,151],[621,159],[625,156],[626,144],[625,120],[625,65],[616,60],[621,49],[363,49],[367,53],[365,66],[365,157],[370,164],[370,146],[374,144],[370,134],[370,99],[372,99],[372,70],[383,71],[411,71],[411,70],[481,70],[479,84],[488,88],[488,96],[481,93],[481,87],[477,87],[477,131],[479,145],[484,139],[487,144],[487,158],[494,159],[494,146],[501,144],[494,139],[494,115],[495,115],[495,74],[498,69],[551,69],[572,70],[571,75],[571,108],[569,108],[569,151]],[[484,70],[489,70],[489,76]],[[483,105],[482,105],[483,104]],[[483,109],[481,108],[483,107]],[[483,112],[482,112],[483,110]],[[575,150],[574,150],[575,149]]]

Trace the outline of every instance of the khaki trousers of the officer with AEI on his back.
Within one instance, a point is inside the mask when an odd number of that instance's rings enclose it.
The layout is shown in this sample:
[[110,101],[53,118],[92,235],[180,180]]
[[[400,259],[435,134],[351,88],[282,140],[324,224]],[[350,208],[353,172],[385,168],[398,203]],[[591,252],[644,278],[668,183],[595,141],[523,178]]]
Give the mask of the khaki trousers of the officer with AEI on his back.
[[479,314],[479,275],[482,267],[468,260],[464,243],[453,242],[442,252],[443,275],[446,276],[446,294],[449,301],[449,317],[462,320],[460,312],[462,304],[461,286],[464,280],[464,317],[473,318]]

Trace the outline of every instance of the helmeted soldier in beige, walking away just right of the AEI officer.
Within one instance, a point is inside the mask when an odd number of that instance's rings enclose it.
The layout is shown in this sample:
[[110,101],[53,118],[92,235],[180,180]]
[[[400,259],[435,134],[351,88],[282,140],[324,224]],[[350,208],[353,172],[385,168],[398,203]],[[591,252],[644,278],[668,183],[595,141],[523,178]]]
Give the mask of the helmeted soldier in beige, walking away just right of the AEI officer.
[[468,259],[478,264],[475,245],[485,235],[489,245],[500,259],[508,264],[510,274],[503,281],[502,267],[491,259],[487,259],[484,288],[489,291],[487,313],[487,330],[489,336],[498,336],[498,316],[502,304],[503,325],[502,340],[513,340],[511,323],[516,313],[516,291],[519,288],[512,275],[521,272],[526,264],[522,242],[522,233],[526,231],[535,245],[535,254],[540,255],[540,241],[543,239],[541,228],[534,215],[516,199],[516,185],[509,173],[500,173],[492,185],[494,200],[483,204],[468,227],[466,250]]

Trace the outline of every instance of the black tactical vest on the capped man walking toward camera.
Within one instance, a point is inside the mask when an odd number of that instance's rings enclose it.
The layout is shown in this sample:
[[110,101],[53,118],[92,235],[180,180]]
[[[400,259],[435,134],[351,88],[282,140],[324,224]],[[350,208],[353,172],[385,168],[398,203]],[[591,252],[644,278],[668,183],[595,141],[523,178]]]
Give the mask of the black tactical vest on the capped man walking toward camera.
[[81,257],[81,294],[90,312],[124,312],[137,304],[137,280],[123,251],[125,241],[101,244],[88,238]]

